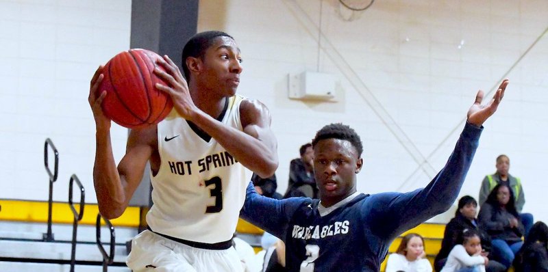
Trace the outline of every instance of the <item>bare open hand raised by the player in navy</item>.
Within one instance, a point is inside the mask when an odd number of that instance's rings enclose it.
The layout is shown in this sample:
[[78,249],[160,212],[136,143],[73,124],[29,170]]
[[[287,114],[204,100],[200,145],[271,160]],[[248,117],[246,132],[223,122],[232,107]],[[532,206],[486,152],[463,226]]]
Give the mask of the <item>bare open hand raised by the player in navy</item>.
[[504,79],[499,86],[497,92],[493,98],[486,105],[482,105],[482,100],[484,99],[484,92],[479,90],[475,96],[475,102],[468,110],[468,122],[474,124],[475,126],[482,126],[485,120],[487,120],[495,111],[501,103],[502,97],[504,96],[504,91],[508,86],[508,79]]

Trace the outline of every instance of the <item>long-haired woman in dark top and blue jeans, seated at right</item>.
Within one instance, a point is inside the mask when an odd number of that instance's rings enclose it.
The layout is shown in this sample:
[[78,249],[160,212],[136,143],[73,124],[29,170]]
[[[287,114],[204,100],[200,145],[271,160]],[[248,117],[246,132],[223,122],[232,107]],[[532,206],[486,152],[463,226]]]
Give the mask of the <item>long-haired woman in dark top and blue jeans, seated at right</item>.
[[523,245],[523,224],[514,204],[514,195],[508,185],[495,186],[479,209],[479,228],[485,230],[493,245],[493,259],[506,268],[512,265],[514,256]]

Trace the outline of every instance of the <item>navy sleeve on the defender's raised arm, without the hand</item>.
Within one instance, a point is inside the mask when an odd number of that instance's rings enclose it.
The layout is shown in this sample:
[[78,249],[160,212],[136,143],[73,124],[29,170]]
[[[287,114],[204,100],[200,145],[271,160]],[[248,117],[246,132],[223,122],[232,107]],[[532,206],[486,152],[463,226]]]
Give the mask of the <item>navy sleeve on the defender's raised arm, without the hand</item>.
[[[466,173],[477,149],[483,130],[466,122],[455,149],[445,167],[424,189],[409,193],[379,193],[373,195],[376,202],[369,217],[379,234],[387,238],[418,226],[427,219],[445,212],[458,197]],[[368,215],[366,215],[368,216]]]

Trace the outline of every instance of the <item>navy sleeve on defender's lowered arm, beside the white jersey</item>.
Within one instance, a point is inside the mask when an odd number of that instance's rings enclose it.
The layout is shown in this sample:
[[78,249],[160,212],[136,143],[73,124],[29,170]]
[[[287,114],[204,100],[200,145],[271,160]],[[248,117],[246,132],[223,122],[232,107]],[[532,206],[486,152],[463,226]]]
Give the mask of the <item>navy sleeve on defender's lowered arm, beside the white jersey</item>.
[[255,191],[249,182],[245,193],[245,203],[240,210],[240,217],[279,239],[285,240],[288,222],[297,208],[310,204],[310,198],[287,198],[276,200],[266,198]]

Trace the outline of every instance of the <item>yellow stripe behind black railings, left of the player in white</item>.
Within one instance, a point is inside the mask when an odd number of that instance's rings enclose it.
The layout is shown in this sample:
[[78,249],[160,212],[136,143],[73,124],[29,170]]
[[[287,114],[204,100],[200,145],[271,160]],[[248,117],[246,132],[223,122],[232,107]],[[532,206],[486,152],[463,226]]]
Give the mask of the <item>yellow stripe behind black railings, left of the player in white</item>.
[[[47,202],[25,200],[0,200],[0,220],[47,223]],[[75,205],[79,212],[79,205]],[[113,226],[138,227],[139,207],[127,207],[121,217],[110,220]],[[97,204],[84,206],[84,217],[79,224],[95,225],[99,213]],[[53,223],[73,223],[74,215],[68,203],[53,202],[51,221]]]

